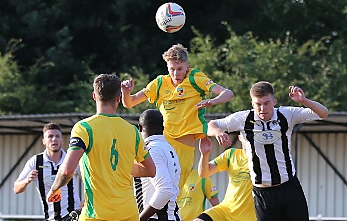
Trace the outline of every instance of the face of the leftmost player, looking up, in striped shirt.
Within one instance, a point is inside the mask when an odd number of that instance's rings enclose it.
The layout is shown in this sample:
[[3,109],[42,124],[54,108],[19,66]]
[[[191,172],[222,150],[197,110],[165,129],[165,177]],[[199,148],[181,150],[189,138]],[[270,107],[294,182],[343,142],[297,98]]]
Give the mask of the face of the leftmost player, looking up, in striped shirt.
[[63,143],[61,132],[55,129],[45,131],[42,143],[46,146],[48,151],[58,152]]

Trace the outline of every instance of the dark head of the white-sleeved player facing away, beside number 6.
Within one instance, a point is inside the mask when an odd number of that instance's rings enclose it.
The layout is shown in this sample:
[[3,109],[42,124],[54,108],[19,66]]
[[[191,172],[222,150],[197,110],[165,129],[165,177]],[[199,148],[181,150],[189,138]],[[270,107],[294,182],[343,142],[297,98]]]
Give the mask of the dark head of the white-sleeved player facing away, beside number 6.
[[142,131],[149,135],[163,134],[163,122],[163,115],[156,109],[145,110],[139,119]]

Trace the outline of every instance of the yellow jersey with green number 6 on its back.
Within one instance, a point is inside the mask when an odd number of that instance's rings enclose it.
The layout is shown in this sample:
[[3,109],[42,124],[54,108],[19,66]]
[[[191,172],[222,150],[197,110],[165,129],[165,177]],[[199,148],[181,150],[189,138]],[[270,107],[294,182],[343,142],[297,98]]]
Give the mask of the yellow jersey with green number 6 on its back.
[[69,150],[78,148],[85,149],[79,162],[86,199],[80,220],[135,216],[130,173],[135,159],[142,162],[149,156],[137,128],[117,115],[93,115],[72,129]]

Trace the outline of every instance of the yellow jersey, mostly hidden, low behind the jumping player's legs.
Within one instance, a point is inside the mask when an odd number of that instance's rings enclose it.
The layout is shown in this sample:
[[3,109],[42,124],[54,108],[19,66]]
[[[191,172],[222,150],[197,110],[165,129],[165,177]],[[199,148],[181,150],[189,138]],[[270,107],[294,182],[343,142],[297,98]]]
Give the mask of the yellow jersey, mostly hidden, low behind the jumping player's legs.
[[190,172],[181,193],[177,204],[183,221],[197,218],[205,210],[206,198],[210,200],[218,195],[211,178],[201,178],[197,170]]

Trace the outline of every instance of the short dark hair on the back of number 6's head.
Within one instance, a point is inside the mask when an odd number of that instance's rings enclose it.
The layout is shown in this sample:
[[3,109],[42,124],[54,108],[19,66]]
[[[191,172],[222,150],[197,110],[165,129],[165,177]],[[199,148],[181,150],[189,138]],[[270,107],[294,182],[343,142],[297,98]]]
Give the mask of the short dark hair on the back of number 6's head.
[[94,79],[93,88],[95,96],[102,102],[116,102],[120,91],[121,81],[115,74],[100,74]]

